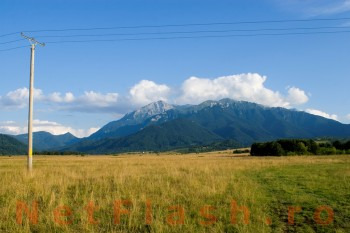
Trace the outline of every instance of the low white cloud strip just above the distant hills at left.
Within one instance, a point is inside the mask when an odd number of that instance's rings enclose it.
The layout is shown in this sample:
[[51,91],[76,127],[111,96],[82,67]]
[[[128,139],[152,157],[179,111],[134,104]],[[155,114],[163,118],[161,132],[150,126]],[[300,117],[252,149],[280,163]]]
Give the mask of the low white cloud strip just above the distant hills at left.
[[[76,137],[87,137],[95,133],[100,128],[92,127],[89,129],[76,129],[71,126],[65,126],[53,121],[42,121],[42,120],[33,120],[33,132],[46,131],[53,135],[60,135],[65,133],[71,133]],[[28,128],[20,126],[13,121],[0,122],[0,133],[4,134],[25,134],[28,132]]]

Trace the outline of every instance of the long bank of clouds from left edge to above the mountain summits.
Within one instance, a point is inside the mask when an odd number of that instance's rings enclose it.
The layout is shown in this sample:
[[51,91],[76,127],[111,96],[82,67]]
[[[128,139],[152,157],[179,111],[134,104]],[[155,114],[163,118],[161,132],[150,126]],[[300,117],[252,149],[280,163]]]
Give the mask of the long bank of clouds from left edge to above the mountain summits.
[[[295,107],[309,98],[297,87],[287,88],[287,93],[271,90],[265,86],[266,76],[257,73],[223,76],[214,79],[190,77],[179,89],[150,80],[141,80],[132,86],[126,95],[85,91],[76,96],[72,92],[53,92],[47,95],[35,89],[36,103],[49,105],[56,110],[77,112],[125,113],[154,101],[163,100],[175,104],[198,104],[205,100],[231,98],[259,103],[270,107]],[[0,96],[0,106],[13,110],[26,107],[28,89],[19,88]]]

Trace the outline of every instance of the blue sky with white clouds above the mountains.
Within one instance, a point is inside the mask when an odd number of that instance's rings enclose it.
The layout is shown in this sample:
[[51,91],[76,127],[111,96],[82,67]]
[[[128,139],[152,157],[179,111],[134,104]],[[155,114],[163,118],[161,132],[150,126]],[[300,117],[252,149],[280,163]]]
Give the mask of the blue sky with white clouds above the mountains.
[[[307,21],[271,22],[281,20]],[[34,131],[86,137],[157,100],[222,98],[350,123],[350,33],[266,35],[350,31],[350,0],[1,0],[0,22],[0,133],[27,131],[20,32],[46,43],[35,53]]]

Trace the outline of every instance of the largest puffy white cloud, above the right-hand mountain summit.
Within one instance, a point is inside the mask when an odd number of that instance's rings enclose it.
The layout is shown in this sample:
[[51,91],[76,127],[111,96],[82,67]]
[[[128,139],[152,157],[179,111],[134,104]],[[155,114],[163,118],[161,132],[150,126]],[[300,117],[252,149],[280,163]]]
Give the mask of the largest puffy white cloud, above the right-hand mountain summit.
[[282,96],[278,91],[272,91],[264,86],[266,76],[247,73],[223,76],[216,79],[191,77],[182,85],[182,94],[177,99],[179,103],[198,104],[205,100],[232,98],[245,100],[273,107],[291,107],[308,101],[305,92],[292,87],[288,96]]

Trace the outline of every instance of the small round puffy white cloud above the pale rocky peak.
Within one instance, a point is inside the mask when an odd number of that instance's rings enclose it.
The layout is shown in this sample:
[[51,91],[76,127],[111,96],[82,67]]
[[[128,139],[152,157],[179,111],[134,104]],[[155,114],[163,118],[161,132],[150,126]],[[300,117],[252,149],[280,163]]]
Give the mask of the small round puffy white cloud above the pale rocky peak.
[[129,94],[131,102],[141,106],[158,100],[168,101],[170,88],[164,84],[142,80],[130,89]]

